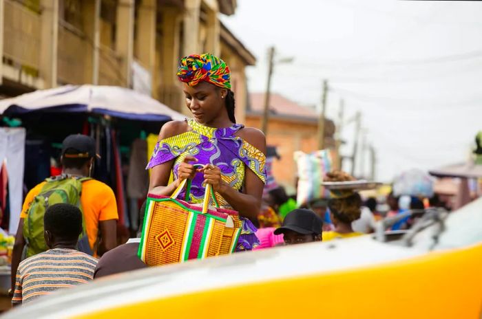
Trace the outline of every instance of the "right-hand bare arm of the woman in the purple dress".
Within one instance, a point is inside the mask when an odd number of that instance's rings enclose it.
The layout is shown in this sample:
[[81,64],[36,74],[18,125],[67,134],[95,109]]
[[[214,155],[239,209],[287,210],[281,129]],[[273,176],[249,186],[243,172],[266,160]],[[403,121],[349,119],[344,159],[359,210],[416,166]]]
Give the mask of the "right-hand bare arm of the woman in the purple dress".
[[[266,138],[258,129],[245,128],[240,131],[239,137],[249,142],[266,154]],[[258,217],[261,207],[264,183],[250,168],[246,168],[244,175],[243,192],[231,188],[229,184],[221,179],[221,171],[216,166],[207,166],[204,169],[205,182],[213,186],[222,198],[235,210],[240,212],[242,217],[255,220]]]

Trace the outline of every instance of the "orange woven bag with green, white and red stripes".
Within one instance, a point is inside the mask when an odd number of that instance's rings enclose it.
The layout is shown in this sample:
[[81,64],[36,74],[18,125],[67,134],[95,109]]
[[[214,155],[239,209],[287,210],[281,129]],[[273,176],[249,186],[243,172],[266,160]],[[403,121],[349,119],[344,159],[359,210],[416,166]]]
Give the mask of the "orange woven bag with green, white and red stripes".
[[[176,199],[187,187],[184,201]],[[231,254],[241,233],[238,212],[219,208],[207,184],[202,206],[189,203],[191,181],[183,180],[171,197],[147,197],[138,256],[146,265]],[[216,207],[210,206],[210,201]]]

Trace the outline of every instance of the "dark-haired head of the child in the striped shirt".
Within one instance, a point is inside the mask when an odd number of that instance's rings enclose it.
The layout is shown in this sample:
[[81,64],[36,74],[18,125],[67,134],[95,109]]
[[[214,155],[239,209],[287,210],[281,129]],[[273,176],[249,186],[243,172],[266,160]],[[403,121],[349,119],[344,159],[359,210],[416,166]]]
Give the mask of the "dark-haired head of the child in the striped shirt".
[[76,245],[82,232],[82,212],[68,203],[57,203],[43,216],[45,242],[49,248],[56,243]]

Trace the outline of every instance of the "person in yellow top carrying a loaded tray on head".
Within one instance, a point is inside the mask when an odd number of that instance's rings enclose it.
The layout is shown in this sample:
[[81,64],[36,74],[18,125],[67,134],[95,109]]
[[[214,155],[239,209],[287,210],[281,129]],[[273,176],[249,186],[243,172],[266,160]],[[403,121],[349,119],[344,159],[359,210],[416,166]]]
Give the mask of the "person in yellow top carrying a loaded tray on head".
[[[326,174],[324,181],[355,181],[355,178],[342,170],[334,170]],[[330,195],[328,210],[335,229],[331,232],[323,232],[323,241],[362,235],[361,232],[355,232],[352,228],[353,221],[359,219],[362,212],[360,195],[353,188],[330,190]]]

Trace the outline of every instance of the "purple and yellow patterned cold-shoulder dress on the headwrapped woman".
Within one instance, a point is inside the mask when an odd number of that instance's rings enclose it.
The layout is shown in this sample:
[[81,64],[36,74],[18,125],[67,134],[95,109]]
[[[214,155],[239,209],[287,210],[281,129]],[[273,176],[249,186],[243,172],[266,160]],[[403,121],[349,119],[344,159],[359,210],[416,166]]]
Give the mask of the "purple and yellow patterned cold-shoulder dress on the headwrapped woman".
[[[246,168],[251,169],[263,183],[266,182],[265,155],[258,148],[242,140],[241,137],[235,136],[235,133],[244,127],[243,125],[234,124],[228,128],[216,129],[199,124],[193,119],[187,120],[187,124],[192,131],[168,137],[156,144],[147,168],[153,168],[171,159],[176,159],[171,173],[174,174],[173,178],[177,179],[180,163],[187,155],[191,155],[198,159],[196,164],[218,166],[222,179],[235,190],[241,191],[244,186]],[[196,174],[192,181],[191,201],[193,203],[202,203],[205,196],[203,181],[202,173]],[[225,199],[219,194],[216,195],[221,207],[232,209]],[[185,191],[179,195],[179,198],[185,198]],[[243,229],[236,251],[251,250],[259,245],[258,238],[254,234],[256,228],[249,219],[240,218]]]

